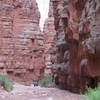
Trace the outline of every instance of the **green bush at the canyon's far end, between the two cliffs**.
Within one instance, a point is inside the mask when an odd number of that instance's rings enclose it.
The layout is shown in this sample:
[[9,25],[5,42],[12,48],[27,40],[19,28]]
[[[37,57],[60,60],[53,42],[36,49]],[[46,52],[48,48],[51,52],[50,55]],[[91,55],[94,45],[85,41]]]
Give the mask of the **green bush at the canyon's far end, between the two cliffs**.
[[51,75],[44,76],[39,83],[42,87],[49,87],[52,84],[52,76]]

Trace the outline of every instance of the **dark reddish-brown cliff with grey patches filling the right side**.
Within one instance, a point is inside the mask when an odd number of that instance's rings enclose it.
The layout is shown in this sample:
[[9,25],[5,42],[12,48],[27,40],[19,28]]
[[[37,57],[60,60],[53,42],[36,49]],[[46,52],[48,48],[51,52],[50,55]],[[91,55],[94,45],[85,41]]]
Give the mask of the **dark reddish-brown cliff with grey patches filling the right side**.
[[100,1],[50,0],[53,3],[56,37],[53,71],[59,87],[84,92],[100,77]]

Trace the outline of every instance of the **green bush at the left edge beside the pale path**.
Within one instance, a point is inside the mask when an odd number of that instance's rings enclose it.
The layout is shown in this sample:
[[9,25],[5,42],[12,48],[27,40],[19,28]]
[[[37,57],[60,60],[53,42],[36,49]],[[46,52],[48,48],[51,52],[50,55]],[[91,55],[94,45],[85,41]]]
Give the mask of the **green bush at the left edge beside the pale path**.
[[8,92],[13,89],[13,83],[5,75],[0,75],[0,85]]

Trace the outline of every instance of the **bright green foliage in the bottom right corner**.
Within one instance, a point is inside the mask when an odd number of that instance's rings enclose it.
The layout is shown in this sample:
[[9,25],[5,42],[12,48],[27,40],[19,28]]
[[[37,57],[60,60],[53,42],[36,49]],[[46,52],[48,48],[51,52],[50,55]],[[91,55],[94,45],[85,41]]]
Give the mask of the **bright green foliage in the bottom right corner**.
[[95,89],[87,88],[87,92],[83,97],[84,100],[100,100],[100,86]]

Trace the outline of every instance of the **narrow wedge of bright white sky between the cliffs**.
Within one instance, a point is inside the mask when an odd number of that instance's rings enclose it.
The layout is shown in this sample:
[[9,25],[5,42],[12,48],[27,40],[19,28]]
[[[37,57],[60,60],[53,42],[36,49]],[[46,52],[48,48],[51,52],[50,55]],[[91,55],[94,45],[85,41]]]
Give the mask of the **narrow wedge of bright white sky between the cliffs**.
[[49,0],[36,0],[38,3],[39,11],[41,13],[40,27],[43,30],[44,21],[48,17]]

